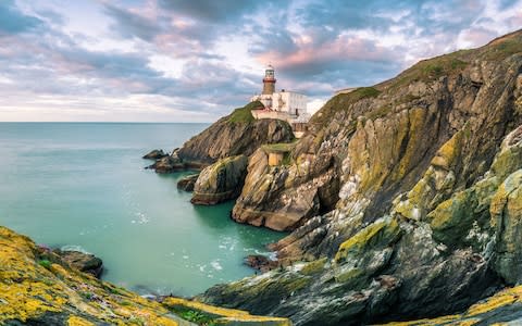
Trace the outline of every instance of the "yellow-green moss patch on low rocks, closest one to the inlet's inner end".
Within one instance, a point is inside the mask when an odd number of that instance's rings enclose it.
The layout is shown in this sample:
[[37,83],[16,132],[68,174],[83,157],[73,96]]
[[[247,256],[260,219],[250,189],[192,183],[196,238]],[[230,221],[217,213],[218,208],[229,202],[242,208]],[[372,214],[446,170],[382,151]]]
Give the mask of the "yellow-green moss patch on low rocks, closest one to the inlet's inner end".
[[378,220],[343,242],[335,254],[336,262],[343,262],[348,254],[357,254],[369,248],[388,247],[400,236],[400,226],[395,218]]

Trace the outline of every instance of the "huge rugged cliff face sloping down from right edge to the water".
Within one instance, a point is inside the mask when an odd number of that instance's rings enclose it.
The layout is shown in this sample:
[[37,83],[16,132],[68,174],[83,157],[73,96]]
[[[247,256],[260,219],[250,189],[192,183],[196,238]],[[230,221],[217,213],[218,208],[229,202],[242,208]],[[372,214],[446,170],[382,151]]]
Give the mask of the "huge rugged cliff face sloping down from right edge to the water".
[[336,96],[311,125],[287,164],[250,158],[234,208],[298,227],[272,246],[286,267],[201,300],[350,325],[452,313],[520,281],[522,32]]

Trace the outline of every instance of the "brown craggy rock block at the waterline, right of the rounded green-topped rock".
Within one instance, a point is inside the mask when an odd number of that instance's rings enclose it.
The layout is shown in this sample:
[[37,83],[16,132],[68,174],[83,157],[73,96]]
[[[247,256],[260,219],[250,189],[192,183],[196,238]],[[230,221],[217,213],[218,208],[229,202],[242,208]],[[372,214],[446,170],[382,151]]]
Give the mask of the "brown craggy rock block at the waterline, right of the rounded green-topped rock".
[[296,164],[270,166],[268,154],[262,149],[256,151],[233,218],[293,230],[322,211],[332,210],[338,191],[336,166],[331,156],[322,159],[325,161],[303,154]]

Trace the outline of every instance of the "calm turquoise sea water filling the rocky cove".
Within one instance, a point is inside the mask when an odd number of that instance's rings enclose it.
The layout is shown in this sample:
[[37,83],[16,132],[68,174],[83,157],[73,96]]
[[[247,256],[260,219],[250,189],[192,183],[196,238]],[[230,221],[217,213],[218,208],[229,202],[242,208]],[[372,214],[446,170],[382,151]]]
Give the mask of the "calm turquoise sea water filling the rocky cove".
[[251,275],[243,258],[283,235],[239,225],[233,203],[194,206],[141,155],[206,124],[0,123],[0,225],[100,256],[103,279],[140,293],[192,296]]

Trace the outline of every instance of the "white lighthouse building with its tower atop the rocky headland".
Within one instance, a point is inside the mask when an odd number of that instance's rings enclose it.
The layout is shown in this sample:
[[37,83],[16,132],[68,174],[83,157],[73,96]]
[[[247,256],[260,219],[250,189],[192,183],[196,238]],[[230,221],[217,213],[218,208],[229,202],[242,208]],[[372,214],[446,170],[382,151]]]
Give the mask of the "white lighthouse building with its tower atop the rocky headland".
[[263,78],[263,91],[253,96],[250,101],[260,101],[264,108],[252,110],[256,118],[279,118],[289,124],[308,123],[310,114],[307,112],[308,97],[295,91],[282,89],[275,91],[275,72],[272,65],[266,66]]

